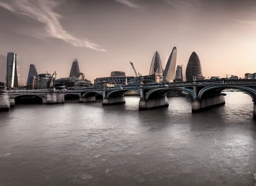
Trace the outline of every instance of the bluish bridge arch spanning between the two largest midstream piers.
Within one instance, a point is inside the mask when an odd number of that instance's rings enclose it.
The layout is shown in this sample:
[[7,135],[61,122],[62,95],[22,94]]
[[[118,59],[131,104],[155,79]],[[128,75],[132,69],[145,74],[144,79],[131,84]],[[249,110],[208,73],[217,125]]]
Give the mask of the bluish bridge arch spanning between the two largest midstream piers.
[[147,101],[153,94],[156,94],[156,93],[159,93],[160,97],[161,96],[164,97],[171,90],[178,90],[178,91],[181,91],[181,92],[184,91],[184,92],[190,94],[190,96],[192,98],[195,98],[194,91],[191,90],[191,89],[185,89],[185,88],[181,88],[181,87],[165,87],[165,88],[154,88],[154,89],[149,90],[146,97],[145,97],[145,100]]

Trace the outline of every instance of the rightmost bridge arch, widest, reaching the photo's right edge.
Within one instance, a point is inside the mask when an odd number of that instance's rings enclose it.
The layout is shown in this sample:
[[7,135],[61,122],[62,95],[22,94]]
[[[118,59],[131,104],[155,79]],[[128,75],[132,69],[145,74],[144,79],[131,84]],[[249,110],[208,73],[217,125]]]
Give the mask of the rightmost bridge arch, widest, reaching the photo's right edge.
[[218,92],[218,95],[225,90],[225,89],[236,89],[241,90],[242,92],[248,94],[252,97],[253,100],[256,98],[256,90],[252,88],[248,88],[245,86],[236,86],[236,85],[216,85],[216,86],[207,86],[203,89],[201,89],[198,93],[199,100],[202,100],[204,95],[207,94],[211,90],[216,90]]

